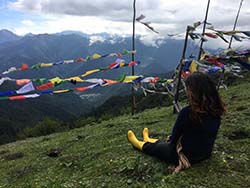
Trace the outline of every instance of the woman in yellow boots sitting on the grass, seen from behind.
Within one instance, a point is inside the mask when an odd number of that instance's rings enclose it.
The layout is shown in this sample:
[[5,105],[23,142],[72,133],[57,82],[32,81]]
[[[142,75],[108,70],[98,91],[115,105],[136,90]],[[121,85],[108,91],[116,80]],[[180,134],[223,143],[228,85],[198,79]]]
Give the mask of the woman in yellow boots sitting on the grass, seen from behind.
[[[175,171],[211,156],[214,141],[226,108],[214,82],[204,73],[195,72],[185,81],[189,105],[184,107],[166,141],[149,137],[143,130],[143,141],[128,131],[128,140],[143,153],[179,166]],[[190,164],[191,163],[191,164]]]

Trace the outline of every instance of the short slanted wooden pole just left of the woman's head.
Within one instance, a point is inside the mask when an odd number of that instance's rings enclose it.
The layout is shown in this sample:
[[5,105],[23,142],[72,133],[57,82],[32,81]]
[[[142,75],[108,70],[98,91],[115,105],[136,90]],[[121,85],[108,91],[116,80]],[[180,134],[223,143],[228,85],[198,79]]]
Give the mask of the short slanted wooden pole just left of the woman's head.
[[177,84],[176,84],[176,92],[174,95],[174,113],[179,112],[181,110],[181,107],[179,105],[179,89],[180,89],[180,84],[181,84],[181,73],[182,73],[182,69],[184,67],[184,60],[185,60],[185,56],[186,56],[186,50],[187,50],[187,43],[188,43],[188,34],[189,34],[189,26],[187,26],[186,29],[186,36],[185,36],[185,41],[184,41],[184,47],[182,50],[182,56],[181,56],[181,60],[180,60],[180,64],[178,66],[178,77],[177,77]]

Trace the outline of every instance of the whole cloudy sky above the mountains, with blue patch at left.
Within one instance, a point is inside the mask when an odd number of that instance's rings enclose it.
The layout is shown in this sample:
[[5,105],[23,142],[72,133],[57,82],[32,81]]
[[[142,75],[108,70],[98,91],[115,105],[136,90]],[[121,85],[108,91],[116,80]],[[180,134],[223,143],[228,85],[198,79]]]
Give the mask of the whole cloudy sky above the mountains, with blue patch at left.
[[[211,0],[208,22],[218,30],[232,30],[241,0]],[[136,23],[145,40],[184,33],[187,25],[204,20],[207,0],[136,0],[141,14],[160,34]],[[133,0],[0,0],[0,29],[18,35],[57,33],[132,33]],[[250,30],[250,0],[244,0],[237,29]]]

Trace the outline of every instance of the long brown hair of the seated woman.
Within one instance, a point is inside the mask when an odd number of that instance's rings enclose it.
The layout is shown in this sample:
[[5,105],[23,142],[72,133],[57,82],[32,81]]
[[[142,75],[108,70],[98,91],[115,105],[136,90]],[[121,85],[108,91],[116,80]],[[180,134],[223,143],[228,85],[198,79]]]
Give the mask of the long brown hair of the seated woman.
[[226,112],[225,103],[209,75],[195,72],[186,79],[185,84],[191,107],[191,120],[201,123],[204,114],[220,117]]

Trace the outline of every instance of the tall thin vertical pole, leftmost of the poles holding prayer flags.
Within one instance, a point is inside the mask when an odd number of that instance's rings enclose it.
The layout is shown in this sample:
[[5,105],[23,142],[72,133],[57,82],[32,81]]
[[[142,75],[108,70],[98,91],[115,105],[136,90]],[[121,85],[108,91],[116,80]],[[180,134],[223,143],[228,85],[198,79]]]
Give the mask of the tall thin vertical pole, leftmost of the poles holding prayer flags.
[[[133,10],[134,10],[134,14],[133,14],[133,36],[132,36],[132,50],[135,50],[135,16],[136,16],[136,0],[134,0],[133,3]],[[135,61],[135,54],[132,53],[132,61]],[[135,75],[135,68],[134,66],[132,66],[132,75]],[[135,114],[135,90],[134,87],[132,87],[131,90],[131,114],[134,115]]]

